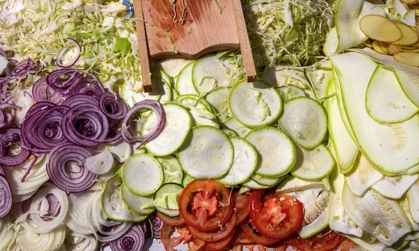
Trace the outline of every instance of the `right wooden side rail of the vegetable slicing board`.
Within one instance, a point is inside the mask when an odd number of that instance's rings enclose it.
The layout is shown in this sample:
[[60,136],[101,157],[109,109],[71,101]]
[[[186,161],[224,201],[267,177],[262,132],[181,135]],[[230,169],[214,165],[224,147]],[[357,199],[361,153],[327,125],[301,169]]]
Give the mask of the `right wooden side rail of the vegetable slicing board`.
[[235,23],[237,26],[237,34],[239,34],[240,51],[242,52],[244,71],[246,72],[247,82],[256,81],[256,68],[253,56],[251,55],[251,47],[249,36],[247,35],[246,23],[244,22],[244,14],[242,2],[240,0],[233,1],[233,11]]

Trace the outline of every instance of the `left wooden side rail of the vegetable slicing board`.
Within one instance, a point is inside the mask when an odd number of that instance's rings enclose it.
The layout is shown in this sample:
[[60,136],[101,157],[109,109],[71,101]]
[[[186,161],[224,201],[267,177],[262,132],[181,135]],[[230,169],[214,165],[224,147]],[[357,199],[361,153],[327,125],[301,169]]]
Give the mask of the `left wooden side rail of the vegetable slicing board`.
[[[133,4],[134,4],[135,18],[144,20],[144,14],[142,13],[141,0],[134,0]],[[145,23],[141,21],[136,21],[135,26],[137,27],[138,49],[140,50],[142,89],[144,89],[144,92],[152,92],[153,91],[152,76],[150,73],[147,36],[145,35]]]

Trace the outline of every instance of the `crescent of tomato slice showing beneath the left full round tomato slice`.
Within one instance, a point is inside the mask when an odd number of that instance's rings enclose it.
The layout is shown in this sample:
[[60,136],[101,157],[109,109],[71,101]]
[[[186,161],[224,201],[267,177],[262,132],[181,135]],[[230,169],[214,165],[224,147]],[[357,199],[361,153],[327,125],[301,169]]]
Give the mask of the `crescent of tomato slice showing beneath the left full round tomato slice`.
[[207,243],[214,243],[220,241],[223,238],[226,238],[232,231],[234,233],[235,226],[237,222],[237,213],[231,215],[230,220],[223,225],[223,227],[217,231],[203,232],[193,227],[186,226],[186,229],[195,236],[196,238],[205,241]]

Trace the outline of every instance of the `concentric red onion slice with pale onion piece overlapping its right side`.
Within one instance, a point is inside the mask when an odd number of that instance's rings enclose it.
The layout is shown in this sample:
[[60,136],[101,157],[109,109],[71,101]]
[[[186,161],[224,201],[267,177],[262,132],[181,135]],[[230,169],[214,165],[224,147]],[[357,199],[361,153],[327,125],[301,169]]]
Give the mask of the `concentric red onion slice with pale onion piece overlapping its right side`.
[[[50,152],[47,163],[47,173],[50,180],[59,189],[67,193],[83,192],[94,185],[98,175],[84,168],[83,162],[87,157],[94,155],[92,150],[78,145],[66,143],[57,145]],[[77,164],[79,171],[69,170],[71,162]]]

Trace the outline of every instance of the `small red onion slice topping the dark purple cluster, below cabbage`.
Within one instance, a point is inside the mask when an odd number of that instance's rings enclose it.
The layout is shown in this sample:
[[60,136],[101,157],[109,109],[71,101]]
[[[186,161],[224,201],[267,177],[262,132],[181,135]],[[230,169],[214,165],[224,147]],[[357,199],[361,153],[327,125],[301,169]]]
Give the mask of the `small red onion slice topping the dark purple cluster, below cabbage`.
[[56,89],[66,90],[78,83],[80,79],[82,79],[82,75],[76,69],[59,69],[48,74],[47,84]]

